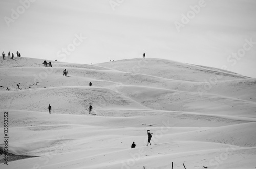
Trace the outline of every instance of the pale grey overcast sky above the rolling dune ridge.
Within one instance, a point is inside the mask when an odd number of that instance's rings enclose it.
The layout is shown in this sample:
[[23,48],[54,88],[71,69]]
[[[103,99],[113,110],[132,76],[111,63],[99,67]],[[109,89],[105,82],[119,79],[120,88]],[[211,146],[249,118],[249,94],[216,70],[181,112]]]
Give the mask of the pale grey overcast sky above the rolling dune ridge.
[[6,54],[95,64],[145,52],[256,77],[254,0],[1,0],[0,15]]

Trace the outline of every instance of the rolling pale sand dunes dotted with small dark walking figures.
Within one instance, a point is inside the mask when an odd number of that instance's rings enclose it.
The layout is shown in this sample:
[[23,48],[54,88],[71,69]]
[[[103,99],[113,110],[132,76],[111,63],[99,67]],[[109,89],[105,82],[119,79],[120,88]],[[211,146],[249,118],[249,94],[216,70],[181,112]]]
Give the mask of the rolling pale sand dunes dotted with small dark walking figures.
[[1,155],[1,168],[256,167],[255,78],[155,58],[43,61],[0,60],[1,138],[8,112],[9,153],[37,156]]

